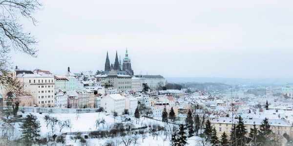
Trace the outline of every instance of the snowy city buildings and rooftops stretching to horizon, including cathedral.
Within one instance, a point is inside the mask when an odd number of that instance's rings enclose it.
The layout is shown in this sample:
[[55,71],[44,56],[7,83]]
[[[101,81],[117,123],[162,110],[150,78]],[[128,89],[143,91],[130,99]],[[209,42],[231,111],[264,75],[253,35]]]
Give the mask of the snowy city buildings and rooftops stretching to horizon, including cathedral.
[[12,96],[1,88],[0,109],[12,98],[23,111],[30,111],[25,107],[35,107],[35,112],[48,113],[58,112],[52,108],[97,109],[121,116],[134,115],[138,108],[141,114],[162,120],[164,110],[167,113],[173,110],[177,124],[184,124],[191,110],[199,115],[201,125],[209,119],[218,137],[224,132],[230,135],[239,116],[247,133],[253,125],[260,128],[263,119],[269,118],[273,133],[293,136],[293,88],[289,84],[261,87],[191,81],[167,83],[162,75],[134,75],[127,49],[123,61],[116,52],[114,64],[110,63],[107,52],[105,70],[96,73],[71,73],[70,67],[59,75],[18,67],[10,73],[23,88]]

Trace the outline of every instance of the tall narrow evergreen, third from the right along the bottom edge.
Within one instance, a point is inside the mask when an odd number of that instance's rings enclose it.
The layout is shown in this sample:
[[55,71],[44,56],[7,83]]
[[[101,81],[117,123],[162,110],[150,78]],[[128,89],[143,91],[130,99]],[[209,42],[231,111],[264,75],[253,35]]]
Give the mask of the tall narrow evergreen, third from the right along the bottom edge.
[[236,126],[236,146],[245,146],[246,144],[246,133],[247,130],[243,123],[243,118],[239,115],[238,117],[238,124]]

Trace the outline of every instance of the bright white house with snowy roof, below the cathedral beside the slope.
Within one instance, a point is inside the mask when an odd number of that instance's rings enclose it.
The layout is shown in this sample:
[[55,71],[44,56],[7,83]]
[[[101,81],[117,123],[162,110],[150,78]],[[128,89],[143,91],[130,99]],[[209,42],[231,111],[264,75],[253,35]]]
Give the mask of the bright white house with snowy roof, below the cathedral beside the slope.
[[120,94],[108,94],[101,99],[101,107],[107,113],[115,111],[118,115],[122,115],[125,110],[125,97]]

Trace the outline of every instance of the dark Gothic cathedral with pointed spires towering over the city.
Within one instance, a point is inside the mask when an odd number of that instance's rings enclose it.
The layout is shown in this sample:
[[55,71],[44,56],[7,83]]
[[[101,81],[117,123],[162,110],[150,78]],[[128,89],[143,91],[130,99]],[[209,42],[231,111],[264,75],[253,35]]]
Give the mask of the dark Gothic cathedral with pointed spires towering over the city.
[[110,65],[110,60],[109,60],[109,56],[108,56],[108,52],[107,52],[106,61],[105,61],[105,72],[111,71],[111,70],[126,71],[127,73],[131,74],[132,76],[134,75],[133,70],[131,69],[131,61],[130,61],[130,57],[128,56],[127,48],[126,48],[125,57],[123,59],[123,63],[121,63],[121,57],[119,57],[119,60],[118,60],[118,54],[116,51],[115,62],[114,62],[114,64]]

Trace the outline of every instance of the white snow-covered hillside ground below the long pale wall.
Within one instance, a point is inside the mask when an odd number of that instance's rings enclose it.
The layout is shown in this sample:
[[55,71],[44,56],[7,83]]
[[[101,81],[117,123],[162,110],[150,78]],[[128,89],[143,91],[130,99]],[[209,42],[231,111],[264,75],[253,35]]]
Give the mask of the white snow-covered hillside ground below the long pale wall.
[[[29,114],[28,112],[26,113],[21,113],[19,112],[19,114],[22,114],[23,117],[25,117],[27,114]],[[40,121],[41,124],[41,135],[42,137],[46,137],[46,136],[52,136],[52,129],[50,128],[50,126],[48,126],[48,128],[46,127],[46,122],[43,119],[43,117],[45,115],[49,115],[50,117],[56,117],[58,120],[61,121],[65,121],[67,119],[69,119],[71,121],[72,124],[72,128],[63,128],[62,131],[60,132],[60,128],[57,126],[55,126],[54,130],[54,134],[57,135],[61,135],[62,133],[65,132],[79,132],[79,131],[94,131],[97,129],[102,129],[103,126],[102,124],[100,124],[100,127],[96,129],[95,127],[95,121],[97,119],[105,119],[105,127],[112,125],[114,123],[114,117],[112,115],[105,115],[104,112],[95,112],[95,113],[80,113],[80,114],[75,114],[75,113],[32,113],[33,115],[37,116],[38,121]],[[164,127],[167,127],[165,123],[161,122],[161,121],[157,121],[157,120],[153,120],[153,119],[148,119],[145,117],[141,117],[136,124],[136,119],[133,116],[118,116],[115,118],[115,123],[121,123],[125,118],[131,118],[131,123],[134,125],[134,127],[138,128],[138,127],[143,127],[143,126],[148,126],[148,125],[153,125],[153,124],[158,124]],[[14,125],[15,129],[16,129],[16,133],[17,136],[20,137],[21,136],[21,132],[19,131],[19,123],[15,123]],[[147,129],[146,129],[147,130]],[[149,136],[149,133],[146,133],[147,137],[146,139],[144,139],[144,142],[142,141],[141,135],[137,134],[139,136],[138,138],[138,143],[135,146],[170,146],[170,138],[167,137],[164,134],[159,135],[158,137],[153,137],[153,136]],[[72,140],[70,137],[72,137],[74,135],[67,135],[66,136],[66,141],[65,141],[65,145],[62,144],[58,144],[60,146],[67,146],[67,145],[72,145],[72,146],[81,146],[81,143],[79,140],[77,140],[75,142],[75,140]],[[133,135],[132,135],[133,136]],[[114,137],[114,138],[104,138],[104,139],[98,139],[98,138],[89,138],[87,139],[87,146],[103,146],[105,144],[105,142],[107,141],[113,141],[115,144],[117,142],[120,142],[119,144],[117,144],[116,146],[125,146],[122,142],[121,142],[121,137]],[[194,138],[191,137],[188,140],[189,145],[188,146],[197,146],[197,140],[198,138]],[[134,146],[134,144],[131,144],[130,146]]]

